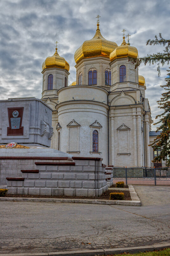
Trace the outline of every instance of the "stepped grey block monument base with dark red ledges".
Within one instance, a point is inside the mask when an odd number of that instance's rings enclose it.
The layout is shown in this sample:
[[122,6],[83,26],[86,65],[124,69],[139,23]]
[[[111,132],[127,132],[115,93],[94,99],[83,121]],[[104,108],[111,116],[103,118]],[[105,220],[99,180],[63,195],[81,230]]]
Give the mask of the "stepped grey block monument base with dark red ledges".
[[51,148],[0,149],[1,183],[9,194],[100,196],[108,189],[101,158]]

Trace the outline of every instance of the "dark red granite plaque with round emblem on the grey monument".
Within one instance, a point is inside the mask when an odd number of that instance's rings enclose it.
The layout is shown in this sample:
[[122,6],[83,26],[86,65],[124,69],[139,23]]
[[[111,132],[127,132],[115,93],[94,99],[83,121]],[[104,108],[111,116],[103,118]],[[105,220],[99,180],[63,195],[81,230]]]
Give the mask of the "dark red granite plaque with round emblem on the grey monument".
[[8,119],[10,126],[7,127],[7,135],[23,135],[22,124],[24,108],[8,108]]

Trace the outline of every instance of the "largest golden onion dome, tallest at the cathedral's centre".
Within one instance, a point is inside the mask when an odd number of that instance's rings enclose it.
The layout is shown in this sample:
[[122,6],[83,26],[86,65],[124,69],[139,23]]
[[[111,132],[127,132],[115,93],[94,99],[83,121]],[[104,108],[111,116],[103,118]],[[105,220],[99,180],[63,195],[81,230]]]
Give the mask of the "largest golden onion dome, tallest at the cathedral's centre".
[[78,63],[84,58],[104,56],[109,58],[110,53],[117,47],[117,44],[106,40],[101,34],[99,23],[94,37],[85,41],[75,52],[74,59]]

